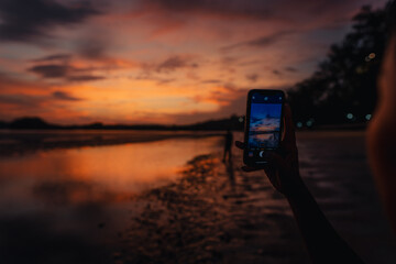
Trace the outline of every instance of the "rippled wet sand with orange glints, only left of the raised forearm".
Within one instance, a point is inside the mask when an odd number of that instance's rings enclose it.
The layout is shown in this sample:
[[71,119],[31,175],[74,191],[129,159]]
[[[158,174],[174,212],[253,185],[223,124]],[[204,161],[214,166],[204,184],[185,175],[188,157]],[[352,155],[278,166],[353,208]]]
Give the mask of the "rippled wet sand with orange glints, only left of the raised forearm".
[[[295,221],[263,175],[212,155],[135,198],[118,263],[307,263]],[[293,260],[293,261],[292,261]]]

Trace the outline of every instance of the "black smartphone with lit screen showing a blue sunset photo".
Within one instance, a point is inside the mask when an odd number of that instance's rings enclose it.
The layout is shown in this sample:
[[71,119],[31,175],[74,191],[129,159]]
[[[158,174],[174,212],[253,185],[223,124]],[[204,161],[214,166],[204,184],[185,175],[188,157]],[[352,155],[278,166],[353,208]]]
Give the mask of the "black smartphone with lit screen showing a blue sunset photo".
[[282,90],[254,89],[248,94],[243,163],[264,166],[266,151],[279,147],[285,94]]

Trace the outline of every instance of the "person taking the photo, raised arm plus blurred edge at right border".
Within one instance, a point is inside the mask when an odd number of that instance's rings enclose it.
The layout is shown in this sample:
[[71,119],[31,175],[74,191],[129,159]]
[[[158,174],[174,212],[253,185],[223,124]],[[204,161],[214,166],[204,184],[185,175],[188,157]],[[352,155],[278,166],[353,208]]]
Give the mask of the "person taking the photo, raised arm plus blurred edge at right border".
[[[367,155],[391,224],[396,231],[396,3],[391,7],[391,38],[378,80],[380,101],[367,133]],[[243,142],[235,142],[239,148]],[[282,153],[282,154],[280,154]],[[314,263],[363,263],[324,217],[305,186],[298,166],[292,111],[285,106],[285,138],[279,152],[267,152],[264,172],[287,198]],[[243,170],[260,168],[243,166]]]

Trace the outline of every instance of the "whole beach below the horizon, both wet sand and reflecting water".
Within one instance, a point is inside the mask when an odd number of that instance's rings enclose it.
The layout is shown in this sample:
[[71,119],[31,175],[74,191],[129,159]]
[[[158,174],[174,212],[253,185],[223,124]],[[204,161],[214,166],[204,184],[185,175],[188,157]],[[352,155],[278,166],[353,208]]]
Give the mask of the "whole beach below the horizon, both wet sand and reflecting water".
[[[240,169],[235,147],[223,163],[222,135],[111,136],[117,144],[67,139],[3,152],[4,263],[309,261],[286,199],[263,172]],[[306,131],[297,142],[301,176],[336,230],[366,263],[394,263],[364,132]]]

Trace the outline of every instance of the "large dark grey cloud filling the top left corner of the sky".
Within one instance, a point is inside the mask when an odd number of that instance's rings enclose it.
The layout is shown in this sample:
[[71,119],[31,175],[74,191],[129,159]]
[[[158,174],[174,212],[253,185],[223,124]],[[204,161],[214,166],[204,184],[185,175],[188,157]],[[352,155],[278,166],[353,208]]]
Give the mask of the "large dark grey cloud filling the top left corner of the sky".
[[0,40],[36,42],[51,36],[53,26],[78,24],[96,14],[89,1],[66,6],[52,0],[1,0]]

